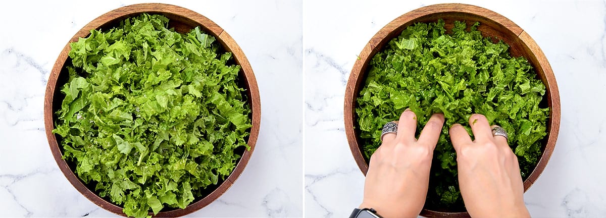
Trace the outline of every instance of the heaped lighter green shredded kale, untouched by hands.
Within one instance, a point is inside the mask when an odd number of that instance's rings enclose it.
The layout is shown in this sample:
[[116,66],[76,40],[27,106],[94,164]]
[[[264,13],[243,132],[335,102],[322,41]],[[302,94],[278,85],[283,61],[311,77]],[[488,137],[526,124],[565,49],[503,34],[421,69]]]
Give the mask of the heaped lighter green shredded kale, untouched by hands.
[[250,108],[215,38],[142,14],[70,44],[53,133],[63,158],[128,216],[185,208],[235,168]]

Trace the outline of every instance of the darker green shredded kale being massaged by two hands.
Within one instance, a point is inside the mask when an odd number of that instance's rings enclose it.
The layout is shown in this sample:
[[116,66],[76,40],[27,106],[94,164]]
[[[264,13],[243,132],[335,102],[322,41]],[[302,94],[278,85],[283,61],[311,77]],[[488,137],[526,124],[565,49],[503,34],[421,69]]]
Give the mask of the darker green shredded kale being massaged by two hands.
[[426,205],[463,210],[457,180],[456,153],[448,129],[468,127],[469,116],[484,114],[503,127],[518,156],[522,177],[536,167],[549,108],[539,105],[545,85],[527,59],[512,58],[504,42],[482,38],[479,23],[466,31],[454,22],[450,34],[444,21],[407,27],[371,59],[364,88],[357,99],[358,128],[364,154],[381,145],[381,128],[410,107],[418,117],[418,132],[433,113],[446,119],[434,151]]

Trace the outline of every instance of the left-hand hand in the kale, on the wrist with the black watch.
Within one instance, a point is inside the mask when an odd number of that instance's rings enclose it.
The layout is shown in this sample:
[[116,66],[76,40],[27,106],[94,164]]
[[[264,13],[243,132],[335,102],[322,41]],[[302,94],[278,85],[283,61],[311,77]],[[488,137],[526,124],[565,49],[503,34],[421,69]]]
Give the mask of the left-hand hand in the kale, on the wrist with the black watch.
[[386,218],[417,217],[425,204],[431,157],[444,124],[443,114],[433,114],[419,140],[415,139],[416,115],[406,109],[398,133],[387,133],[370,157],[360,208],[373,208]]

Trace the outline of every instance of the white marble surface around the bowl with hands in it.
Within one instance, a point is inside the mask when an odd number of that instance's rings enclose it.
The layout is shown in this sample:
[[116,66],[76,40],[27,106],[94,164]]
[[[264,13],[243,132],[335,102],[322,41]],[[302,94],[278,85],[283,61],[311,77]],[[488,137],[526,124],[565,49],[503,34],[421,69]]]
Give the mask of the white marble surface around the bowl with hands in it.
[[[364,176],[343,122],[356,55],[385,24],[445,1],[304,1],[305,217],[347,217]],[[533,217],[606,214],[606,3],[462,1],[511,19],[542,48],[558,81],[562,119],[545,171],[525,193]]]

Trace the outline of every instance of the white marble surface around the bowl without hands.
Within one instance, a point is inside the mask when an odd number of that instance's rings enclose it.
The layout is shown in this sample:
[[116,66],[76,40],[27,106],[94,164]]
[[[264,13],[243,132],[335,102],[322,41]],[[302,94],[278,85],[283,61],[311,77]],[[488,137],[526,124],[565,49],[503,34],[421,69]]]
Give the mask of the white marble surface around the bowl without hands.
[[[76,31],[105,12],[140,2],[0,3],[0,217],[115,216],[85,199],[59,171],[44,133],[44,91]],[[224,28],[247,55],[262,101],[248,167],[230,190],[190,217],[301,217],[302,2],[160,2],[189,8]]]

